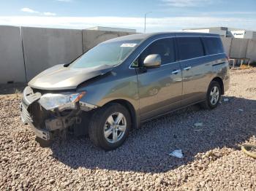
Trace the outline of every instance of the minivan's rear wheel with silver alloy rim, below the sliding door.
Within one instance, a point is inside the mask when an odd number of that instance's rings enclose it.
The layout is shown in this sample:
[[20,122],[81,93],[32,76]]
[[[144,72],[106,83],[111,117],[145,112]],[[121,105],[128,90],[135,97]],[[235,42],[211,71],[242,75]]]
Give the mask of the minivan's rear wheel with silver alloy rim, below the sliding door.
[[219,82],[211,81],[206,93],[206,101],[200,103],[200,106],[203,109],[214,109],[218,106],[220,98],[221,88]]

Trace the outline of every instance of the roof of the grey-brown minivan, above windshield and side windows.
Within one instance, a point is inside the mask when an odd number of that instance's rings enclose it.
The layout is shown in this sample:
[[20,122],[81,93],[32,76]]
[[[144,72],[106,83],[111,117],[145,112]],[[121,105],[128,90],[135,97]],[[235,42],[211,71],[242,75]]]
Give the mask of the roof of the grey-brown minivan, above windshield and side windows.
[[219,37],[219,34],[210,34],[210,33],[195,33],[195,32],[184,32],[184,31],[177,31],[177,32],[161,32],[161,33],[148,33],[148,34],[130,34],[127,36],[120,36],[114,39],[110,39],[106,42],[118,42],[118,41],[128,41],[128,40],[146,40],[151,37],[161,38],[161,37],[168,37],[168,36],[193,36],[193,37]]

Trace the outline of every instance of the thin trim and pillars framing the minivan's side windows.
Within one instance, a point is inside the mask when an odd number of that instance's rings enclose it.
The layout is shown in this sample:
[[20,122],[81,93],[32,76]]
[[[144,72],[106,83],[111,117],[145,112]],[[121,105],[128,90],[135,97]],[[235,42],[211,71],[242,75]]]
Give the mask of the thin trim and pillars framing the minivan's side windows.
[[[150,42],[149,44],[146,45],[145,48],[143,48],[143,50],[140,51],[140,53],[136,56],[136,58],[132,61],[132,63],[139,58],[140,54],[146,50],[146,48],[151,45],[152,43],[156,42],[157,40],[160,40],[160,39],[170,39],[170,38],[173,38],[173,42],[175,44],[175,48],[178,49],[178,44],[176,42],[176,38],[182,38],[182,37],[197,37],[197,38],[219,38],[218,36],[168,36],[168,37],[160,37],[158,39],[154,39],[152,42]],[[202,41],[202,40],[201,40]],[[203,44],[203,41],[202,41],[202,44]],[[203,45],[203,49],[205,51],[205,47]],[[176,52],[176,58],[177,58],[177,52],[178,52],[178,56],[179,56],[179,51],[175,51]],[[221,53],[217,53],[217,54],[212,54],[212,55],[222,55],[222,54],[226,54],[225,52],[221,52]],[[172,62],[172,63],[165,63],[165,64],[161,64],[161,66],[166,66],[166,65],[170,65],[170,64],[173,64],[173,63],[179,63],[179,62],[183,62],[183,61],[190,61],[190,60],[194,60],[194,59],[197,59],[197,58],[203,58],[203,57],[207,57],[207,56],[211,56],[211,55],[203,55],[203,56],[199,56],[199,57],[195,57],[195,58],[189,58],[189,59],[186,59],[186,60],[182,60],[182,61],[175,61],[175,62]],[[139,67],[131,67],[132,66],[132,63],[129,64],[129,69],[139,69]]]

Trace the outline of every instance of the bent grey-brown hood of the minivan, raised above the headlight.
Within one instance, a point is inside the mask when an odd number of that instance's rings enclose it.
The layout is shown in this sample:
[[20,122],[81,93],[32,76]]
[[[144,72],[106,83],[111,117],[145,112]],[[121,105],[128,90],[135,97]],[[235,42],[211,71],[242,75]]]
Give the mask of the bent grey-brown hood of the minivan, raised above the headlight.
[[102,65],[91,68],[69,68],[59,64],[42,71],[29,82],[30,87],[40,90],[71,90],[88,79],[111,71],[113,66]]

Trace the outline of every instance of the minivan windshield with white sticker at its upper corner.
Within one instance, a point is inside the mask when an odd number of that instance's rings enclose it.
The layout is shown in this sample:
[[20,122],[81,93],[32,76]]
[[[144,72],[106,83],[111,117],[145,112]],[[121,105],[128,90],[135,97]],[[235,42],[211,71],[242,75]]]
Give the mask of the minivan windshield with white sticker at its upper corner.
[[141,40],[107,42],[98,44],[70,64],[72,68],[89,68],[118,65],[138,47]]

